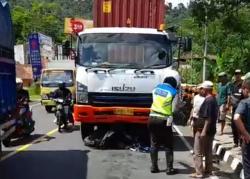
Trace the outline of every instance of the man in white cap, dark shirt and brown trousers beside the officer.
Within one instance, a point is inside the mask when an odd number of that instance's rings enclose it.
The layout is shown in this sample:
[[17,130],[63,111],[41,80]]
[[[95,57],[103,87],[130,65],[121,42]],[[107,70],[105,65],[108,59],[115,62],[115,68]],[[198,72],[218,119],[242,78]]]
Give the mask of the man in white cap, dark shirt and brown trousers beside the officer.
[[[195,166],[199,168],[200,175],[196,173],[191,177],[202,178],[204,175],[212,175],[213,169],[213,140],[216,133],[216,121],[218,117],[218,104],[216,98],[213,96],[213,83],[211,81],[204,81],[201,85],[204,90],[205,100],[199,110],[199,120],[203,125],[202,130],[196,134],[199,137],[199,144],[195,147],[200,147],[201,155],[197,156]],[[203,124],[202,124],[203,123]],[[198,136],[199,135],[199,136]],[[202,156],[205,156],[205,169],[203,169]]]

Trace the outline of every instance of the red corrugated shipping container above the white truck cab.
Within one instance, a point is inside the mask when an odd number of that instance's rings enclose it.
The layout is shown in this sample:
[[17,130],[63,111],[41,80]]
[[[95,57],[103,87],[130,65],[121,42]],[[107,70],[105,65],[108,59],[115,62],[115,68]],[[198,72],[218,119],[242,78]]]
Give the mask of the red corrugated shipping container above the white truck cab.
[[94,27],[162,29],[165,0],[94,0]]

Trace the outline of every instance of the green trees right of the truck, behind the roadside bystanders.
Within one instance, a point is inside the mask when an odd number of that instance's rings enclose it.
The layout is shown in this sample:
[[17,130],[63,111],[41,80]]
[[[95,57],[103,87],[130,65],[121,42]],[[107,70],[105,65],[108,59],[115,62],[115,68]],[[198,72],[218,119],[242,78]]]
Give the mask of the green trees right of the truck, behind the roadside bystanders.
[[[215,80],[218,72],[232,76],[235,69],[250,71],[250,1],[192,0],[186,9],[169,8],[167,23],[179,26],[178,33],[193,38],[193,54],[203,58],[204,28],[208,29],[208,54],[217,56],[216,64],[208,60],[208,79]],[[207,16],[207,17],[206,17]],[[195,62],[187,81],[200,81],[202,63]],[[188,62],[190,65],[190,62]],[[185,74],[184,74],[185,76]],[[195,76],[195,75],[194,75]]]

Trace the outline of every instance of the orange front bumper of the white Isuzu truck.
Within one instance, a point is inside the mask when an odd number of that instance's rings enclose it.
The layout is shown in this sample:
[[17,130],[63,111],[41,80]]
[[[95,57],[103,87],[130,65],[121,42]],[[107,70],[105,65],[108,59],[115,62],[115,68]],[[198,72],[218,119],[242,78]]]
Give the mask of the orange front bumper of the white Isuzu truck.
[[136,107],[95,107],[74,105],[74,120],[84,123],[136,123],[148,122],[150,109]]

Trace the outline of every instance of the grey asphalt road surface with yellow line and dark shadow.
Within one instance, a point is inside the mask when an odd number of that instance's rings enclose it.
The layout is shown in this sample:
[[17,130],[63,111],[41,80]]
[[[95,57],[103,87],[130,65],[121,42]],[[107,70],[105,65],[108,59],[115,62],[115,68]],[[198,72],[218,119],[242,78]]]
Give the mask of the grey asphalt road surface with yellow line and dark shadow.
[[[186,179],[193,172],[192,155],[183,142],[191,141],[186,127],[179,128],[185,137],[175,135],[174,167],[178,174],[166,176],[163,152],[159,155],[162,172],[151,174],[147,153],[88,148],[81,140],[79,128],[58,133],[54,115],[46,113],[39,104],[33,107],[33,118],[36,129],[30,138],[3,147],[0,179]],[[235,178],[224,163],[215,165],[215,169],[217,176],[210,178]]]

